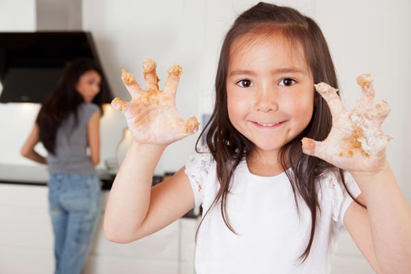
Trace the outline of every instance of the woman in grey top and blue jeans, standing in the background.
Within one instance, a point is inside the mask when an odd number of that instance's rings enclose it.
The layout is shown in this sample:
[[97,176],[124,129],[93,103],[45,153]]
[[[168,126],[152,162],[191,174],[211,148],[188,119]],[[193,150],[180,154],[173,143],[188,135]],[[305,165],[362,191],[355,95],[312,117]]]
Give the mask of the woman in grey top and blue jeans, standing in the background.
[[[49,166],[55,273],[81,273],[100,214],[101,73],[87,58],[67,64],[42,104],[21,153]],[[42,142],[47,159],[34,147]],[[90,155],[87,155],[90,147]]]

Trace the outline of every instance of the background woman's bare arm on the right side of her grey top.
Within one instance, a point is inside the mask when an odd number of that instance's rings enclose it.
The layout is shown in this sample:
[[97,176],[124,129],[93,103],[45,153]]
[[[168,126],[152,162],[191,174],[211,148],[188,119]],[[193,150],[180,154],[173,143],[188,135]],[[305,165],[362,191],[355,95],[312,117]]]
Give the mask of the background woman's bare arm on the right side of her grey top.
[[88,121],[87,128],[90,160],[94,166],[100,162],[100,112],[95,112]]

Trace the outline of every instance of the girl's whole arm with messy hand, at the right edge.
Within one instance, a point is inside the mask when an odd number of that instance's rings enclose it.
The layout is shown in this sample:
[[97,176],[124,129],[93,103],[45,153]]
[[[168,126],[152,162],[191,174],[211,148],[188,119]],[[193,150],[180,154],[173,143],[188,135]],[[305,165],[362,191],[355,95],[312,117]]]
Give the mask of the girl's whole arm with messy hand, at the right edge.
[[371,75],[360,75],[357,82],[362,97],[350,111],[334,88],[316,85],[332,112],[332,129],[323,142],[303,138],[303,151],[349,171],[356,180],[367,209],[351,203],[344,223],[375,271],[411,273],[411,208],[386,160],[392,137],[380,129],[390,109],[386,101],[373,105]]

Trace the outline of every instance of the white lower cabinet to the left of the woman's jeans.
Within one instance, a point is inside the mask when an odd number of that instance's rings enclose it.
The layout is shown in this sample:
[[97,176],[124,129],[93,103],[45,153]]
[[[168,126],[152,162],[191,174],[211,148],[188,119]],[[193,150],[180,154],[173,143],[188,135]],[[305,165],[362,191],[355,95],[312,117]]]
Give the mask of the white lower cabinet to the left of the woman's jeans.
[[0,184],[0,273],[53,273],[46,186]]

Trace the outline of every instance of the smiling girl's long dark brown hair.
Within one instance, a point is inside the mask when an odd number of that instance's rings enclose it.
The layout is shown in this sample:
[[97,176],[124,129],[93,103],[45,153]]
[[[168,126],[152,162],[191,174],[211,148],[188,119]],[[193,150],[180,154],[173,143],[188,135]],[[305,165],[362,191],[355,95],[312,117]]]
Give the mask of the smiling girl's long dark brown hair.
[[[234,40],[246,35],[252,37],[253,34],[261,34],[261,32],[266,32],[266,29],[271,29],[269,32],[275,32],[275,34],[285,38],[290,47],[293,48],[295,47],[293,45],[299,45],[303,49],[305,61],[312,73],[314,83],[325,82],[334,86],[334,88],[338,88],[336,71],[327,42],[321,29],[311,18],[292,8],[260,2],[240,14],[236,21],[234,21],[234,24],[225,36],[221,48],[219,66],[216,73],[216,101],[214,110],[210,121],[205,129],[203,129],[203,132],[201,132],[201,135],[207,132],[206,141],[210,153],[216,161],[216,173],[220,184],[219,192],[217,192],[212,205],[204,214],[203,219],[212,208],[220,203],[221,215],[225,225],[234,233],[236,231],[230,225],[227,215],[227,196],[230,184],[232,184],[232,177],[238,164],[250,155],[253,155],[253,153],[256,153],[256,146],[240,134],[229,121],[226,88],[229,53]],[[305,201],[311,213],[310,239],[305,251],[299,257],[301,262],[305,261],[310,254],[316,231],[317,215],[321,213],[317,197],[317,186],[315,184],[316,180],[325,175],[327,171],[334,171],[339,175],[344,187],[347,189],[342,170],[319,158],[304,154],[301,149],[301,139],[303,137],[319,141],[324,140],[327,138],[331,127],[332,115],[327,103],[323,97],[315,96],[314,111],[310,123],[299,136],[284,145],[279,153],[279,162],[290,180],[297,210],[299,211],[299,203],[297,201],[297,196],[299,196]],[[197,140],[197,145],[199,140]],[[288,166],[292,172],[287,170]],[[350,192],[349,195],[354,199]],[[198,232],[199,230],[197,229]]]

